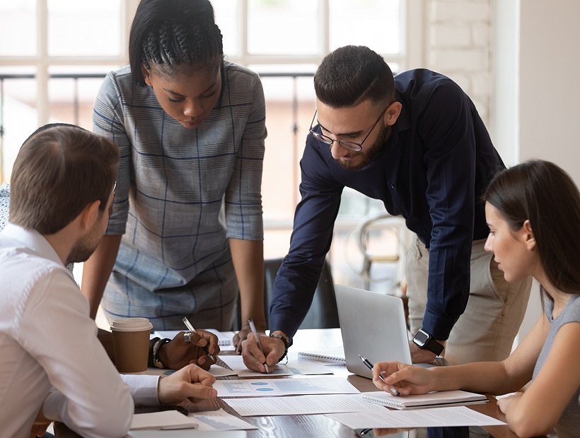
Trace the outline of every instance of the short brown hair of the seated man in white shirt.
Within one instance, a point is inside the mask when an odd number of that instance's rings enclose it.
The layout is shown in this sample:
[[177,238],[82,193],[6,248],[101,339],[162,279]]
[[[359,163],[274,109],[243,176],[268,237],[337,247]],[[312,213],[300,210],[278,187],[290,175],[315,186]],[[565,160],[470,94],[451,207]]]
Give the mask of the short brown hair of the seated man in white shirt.
[[43,235],[100,201],[106,211],[117,174],[112,141],[74,125],[47,125],[22,145],[11,176],[10,221]]

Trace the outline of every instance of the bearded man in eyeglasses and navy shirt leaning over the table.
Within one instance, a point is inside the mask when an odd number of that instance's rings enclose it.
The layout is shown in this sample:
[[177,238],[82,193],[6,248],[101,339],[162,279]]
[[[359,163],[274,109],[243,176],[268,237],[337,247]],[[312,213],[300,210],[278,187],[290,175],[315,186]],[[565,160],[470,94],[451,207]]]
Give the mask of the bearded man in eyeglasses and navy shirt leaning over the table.
[[266,357],[249,337],[245,364],[263,372],[262,363],[272,367],[291,344],[330,249],[344,187],[380,199],[417,235],[406,257],[413,362],[442,354],[452,364],[503,360],[531,279],[509,285],[483,248],[489,229],[480,196],[504,163],[473,102],[433,71],[393,78],[362,46],[327,55],[314,87],[302,199],[269,307],[273,337],[262,340]]

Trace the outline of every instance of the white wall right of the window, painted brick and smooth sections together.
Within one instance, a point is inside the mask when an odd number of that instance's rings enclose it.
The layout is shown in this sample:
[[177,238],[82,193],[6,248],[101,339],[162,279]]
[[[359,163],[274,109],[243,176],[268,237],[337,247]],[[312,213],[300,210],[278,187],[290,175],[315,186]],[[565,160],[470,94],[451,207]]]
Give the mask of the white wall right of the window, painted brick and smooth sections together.
[[[424,0],[425,67],[472,97],[506,165],[555,162],[580,185],[580,1]],[[540,315],[535,284],[519,338]]]

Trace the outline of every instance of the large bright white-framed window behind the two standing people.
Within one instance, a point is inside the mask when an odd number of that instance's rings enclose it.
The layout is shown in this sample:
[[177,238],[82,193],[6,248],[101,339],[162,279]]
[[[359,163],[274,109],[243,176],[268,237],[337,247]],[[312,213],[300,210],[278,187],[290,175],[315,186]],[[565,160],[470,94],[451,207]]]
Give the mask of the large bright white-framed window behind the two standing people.
[[[226,59],[262,75],[269,133],[263,176],[265,251],[267,257],[283,256],[298,202],[298,161],[315,106],[316,66],[333,49],[354,44],[381,53],[395,72],[405,69],[414,51],[405,40],[406,23],[417,14],[407,10],[405,0],[212,3]],[[9,180],[18,148],[37,126],[60,121],[91,129],[93,100],[104,74],[128,64],[129,26],[138,4],[1,2],[0,180]],[[335,242],[347,239],[360,218],[373,211],[383,207],[346,190]]]

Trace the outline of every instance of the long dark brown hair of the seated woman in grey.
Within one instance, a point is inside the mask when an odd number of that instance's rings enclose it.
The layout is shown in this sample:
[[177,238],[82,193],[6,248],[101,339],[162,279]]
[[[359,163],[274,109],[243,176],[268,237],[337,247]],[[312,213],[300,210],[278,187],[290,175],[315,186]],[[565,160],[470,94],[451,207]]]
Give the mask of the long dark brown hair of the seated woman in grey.
[[580,193],[569,174],[549,161],[522,162],[496,174],[484,199],[511,230],[529,220],[550,283],[562,292],[578,293]]

